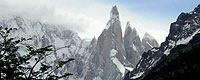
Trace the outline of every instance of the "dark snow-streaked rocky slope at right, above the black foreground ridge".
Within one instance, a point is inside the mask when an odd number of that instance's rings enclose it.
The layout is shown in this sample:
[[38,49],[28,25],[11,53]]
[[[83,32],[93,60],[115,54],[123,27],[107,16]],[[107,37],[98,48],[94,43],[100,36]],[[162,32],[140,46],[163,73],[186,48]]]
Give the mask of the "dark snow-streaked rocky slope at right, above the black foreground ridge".
[[[200,5],[191,13],[181,13],[170,26],[170,32],[160,47],[145,52],[136,68],[126,75],[125,80],[136,79],[147,74],[159,61],[170,54],[180,44],[187,44],[200,31]],[[139,75],[139,76],[138,76]]]

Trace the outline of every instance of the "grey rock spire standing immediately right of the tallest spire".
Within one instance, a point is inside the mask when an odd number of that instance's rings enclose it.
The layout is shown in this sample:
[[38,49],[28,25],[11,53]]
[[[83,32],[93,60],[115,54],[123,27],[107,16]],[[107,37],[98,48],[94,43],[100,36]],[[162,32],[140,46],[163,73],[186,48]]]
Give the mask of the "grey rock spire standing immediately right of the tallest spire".
[[129,22],[127,22],[124,34],[124,47],[126,51],[126,59],[136,66],[140,60],[141,53],[144,52],[144,49],[136,29],[132,29]]

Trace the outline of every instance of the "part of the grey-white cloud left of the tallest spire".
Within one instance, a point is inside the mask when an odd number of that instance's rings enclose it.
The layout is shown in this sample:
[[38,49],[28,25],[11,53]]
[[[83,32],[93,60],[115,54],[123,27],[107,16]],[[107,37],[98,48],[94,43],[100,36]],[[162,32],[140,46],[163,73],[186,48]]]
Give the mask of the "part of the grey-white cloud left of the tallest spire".
[[0,15],[61,24],[85,38],[100,35],[110,7],[92,0],[0,0]]

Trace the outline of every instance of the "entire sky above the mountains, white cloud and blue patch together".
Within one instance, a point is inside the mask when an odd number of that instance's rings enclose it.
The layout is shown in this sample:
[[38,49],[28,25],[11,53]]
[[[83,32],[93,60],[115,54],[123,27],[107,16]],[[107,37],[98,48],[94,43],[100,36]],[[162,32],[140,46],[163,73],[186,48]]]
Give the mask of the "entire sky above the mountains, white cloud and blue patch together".
[[181,12],[190,12],[200,0],[0,0],[0,16],[23,16],[61,24],[81,38],[98,37],[117,5],[122,30],[130,21],[139,35],[150,33],[159,43]]

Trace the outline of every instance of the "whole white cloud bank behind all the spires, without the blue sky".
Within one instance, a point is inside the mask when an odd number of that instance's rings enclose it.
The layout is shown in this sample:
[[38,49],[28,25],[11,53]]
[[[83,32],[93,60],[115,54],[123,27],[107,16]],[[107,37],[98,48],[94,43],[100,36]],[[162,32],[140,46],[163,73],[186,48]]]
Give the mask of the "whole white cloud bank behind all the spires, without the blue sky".
[[[77,31],[82,38],[98,37],[110,18],[113,3],[94,0],[0,0],[0,15],[19,15],[46,23],[61,24]],[[159,42],[164,41],[169,21],[161,18],[146,18],[117,3],[121,26],[124,32],[126,22],[138,30],[152,34]],[[159,34],[158,34],[159,33]]]

